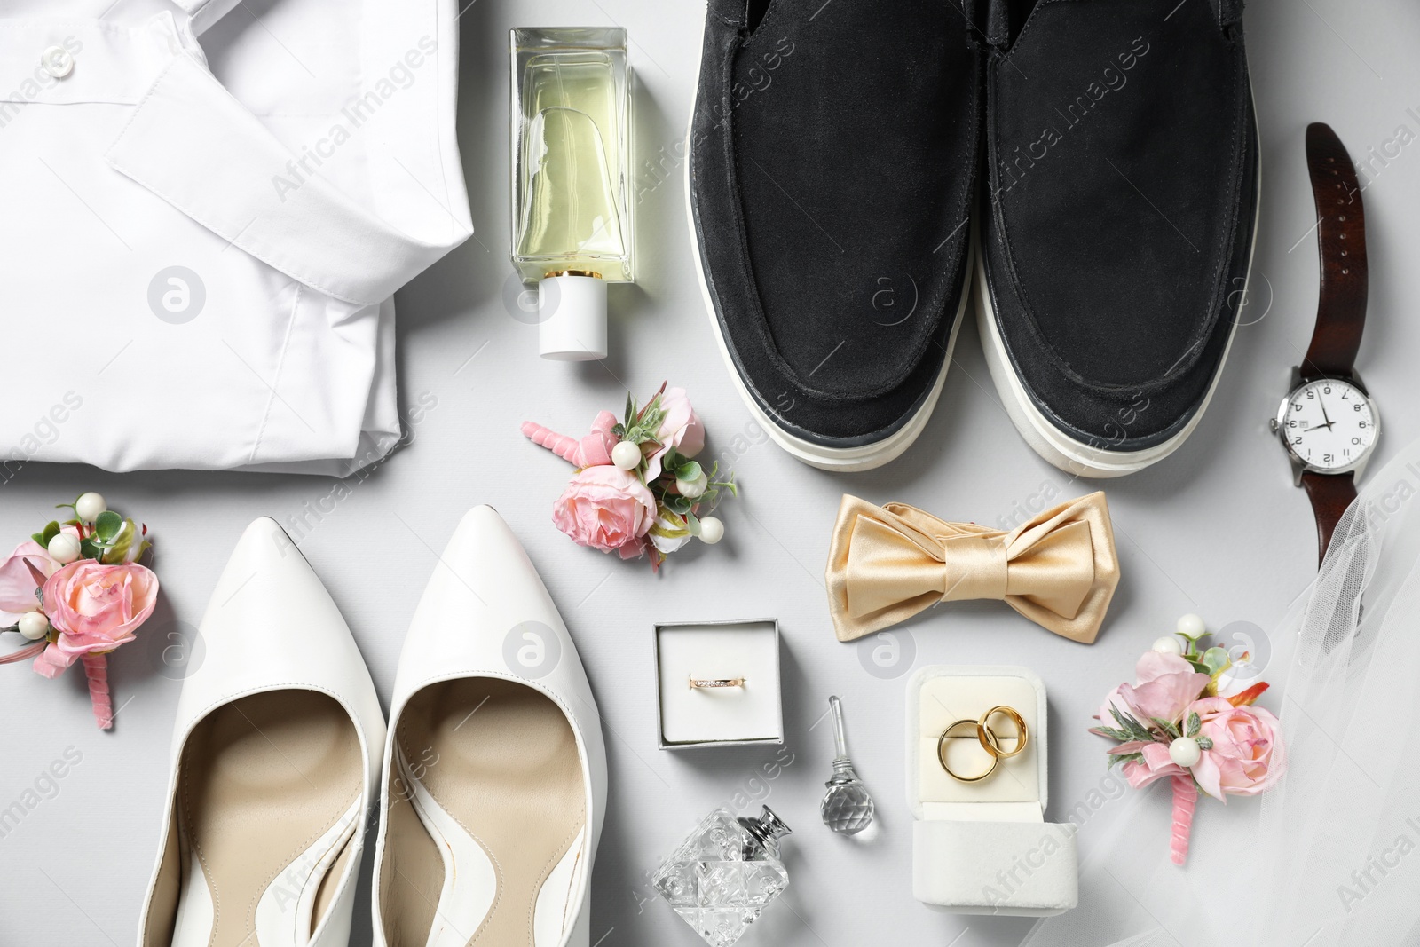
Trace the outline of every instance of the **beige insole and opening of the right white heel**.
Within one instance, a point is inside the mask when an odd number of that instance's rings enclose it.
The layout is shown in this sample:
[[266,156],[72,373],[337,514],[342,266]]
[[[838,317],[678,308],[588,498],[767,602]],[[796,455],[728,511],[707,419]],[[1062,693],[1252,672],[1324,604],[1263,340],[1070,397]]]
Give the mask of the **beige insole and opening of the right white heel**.
[[[403,767],[389,789],[382,879],[390,947],[534,947],[538,894],[586,823],[567,716],[524,684],[462,677],[415,694],[395,738]],[[423,839],[396,843],[400,832]],[[473,843],[486,860],[460,855]],[[571,919],[558,921],[565,930]]]

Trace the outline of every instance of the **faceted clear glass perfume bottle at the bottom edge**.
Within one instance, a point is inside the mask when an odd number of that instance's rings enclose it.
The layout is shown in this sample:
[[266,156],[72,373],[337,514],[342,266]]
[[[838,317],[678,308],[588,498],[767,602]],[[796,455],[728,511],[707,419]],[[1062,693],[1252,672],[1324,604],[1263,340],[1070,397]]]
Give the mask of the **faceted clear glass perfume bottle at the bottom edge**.
[[716,809],[650,880],[706,943],[730,947],[788,887],[778,842],[788,833],[770,806],[757,819]]

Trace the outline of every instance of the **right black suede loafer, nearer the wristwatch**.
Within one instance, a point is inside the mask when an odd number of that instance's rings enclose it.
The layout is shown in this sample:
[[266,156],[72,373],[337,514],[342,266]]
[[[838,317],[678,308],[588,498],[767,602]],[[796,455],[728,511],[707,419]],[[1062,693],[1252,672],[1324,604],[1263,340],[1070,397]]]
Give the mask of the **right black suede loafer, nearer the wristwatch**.
[[1247,298],[1241,0],[1010,0],[987,61],[978,322],[1042,457],[1118,477],[1193,433]]

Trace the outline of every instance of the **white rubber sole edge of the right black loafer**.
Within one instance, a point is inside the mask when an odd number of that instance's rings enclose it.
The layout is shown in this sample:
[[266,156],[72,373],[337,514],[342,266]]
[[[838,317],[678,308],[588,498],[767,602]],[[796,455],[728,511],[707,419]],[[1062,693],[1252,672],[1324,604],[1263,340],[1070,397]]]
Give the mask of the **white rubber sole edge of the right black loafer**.
[[[1252,121],[1257,121],[1255,111]],[[1257,250],[1257,226],[1262,217],[1261,153],[1258,153],[1257,160],[1255,187],[1257,193],[1252,206],[1252,239],[1248,244],[1247,254],[1247,280],[1242,284],[1244,300],[1247,300],[1247,292],[1251,287],[1252,254]],[[1181,447],[1183,442],[1193,434],[1198,422],[1203,420],[1203,415],[1208,410],[1208,405],[1213,402],[1213,393],[1217,390],[1218,382],[1223,379],[1223,369],[1233,351],[1233,339],[1237,336],[1238,331],[1237,314],[1234,314],[1233,328],[1228,329],[1228,342],[1223,349],[1223,359],[1218,362],[1218,369],[1214,372],[1213,381],[1208,383],[1208,392],[1203,398],[1203,405],[1197,412],[1194,412],[1193,417],[1189,419],[1189,423],[1184,425],[1183,430],[1169,440],[1154,444],[1153,447],[1146,447],[1145,450],[1106,450],[1071,437],[1047,420],[1045,415],[1042,415],[1035,406],[1035,402],[1031,400],[1025,386],[1021,385],[1021,379],[1015,375],[1015,369],[1011,365],[1011,356],[1007,354],[1005,342],[1001,339],[1001,332],[995,325],[995,310],[991,305],[991,288],[987,285],[984,253],[977,256],[976,278],[977,329],[981,335],[981,351],[985,352],[987,368],[991,371],[991,381],[995,383],[995,390],[1001,396],[1001,403],[1005,405],[1005,413],[1011,417],[1011,423],[1015,425],[1018,432],[1021,432],[1021,437],[1025,439],[1025,443],[1028,443],[1035,453],[1055,467],[1059,467],[1065,473],[1076,477],[1091,478],[1112,478],[1137,473],[1145,467],[1159,463]]]

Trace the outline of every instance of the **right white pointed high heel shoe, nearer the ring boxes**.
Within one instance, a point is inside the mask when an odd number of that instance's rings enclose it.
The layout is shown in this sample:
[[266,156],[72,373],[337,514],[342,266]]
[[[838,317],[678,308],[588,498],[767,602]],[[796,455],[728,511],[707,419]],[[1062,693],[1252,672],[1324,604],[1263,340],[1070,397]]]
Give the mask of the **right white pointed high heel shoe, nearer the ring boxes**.
[[375,845],[376,947],[586,947],[606,804],[567,626],[491,507],[464,515],[399,659]]

